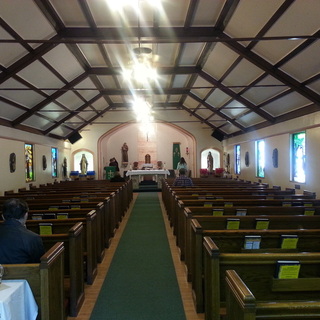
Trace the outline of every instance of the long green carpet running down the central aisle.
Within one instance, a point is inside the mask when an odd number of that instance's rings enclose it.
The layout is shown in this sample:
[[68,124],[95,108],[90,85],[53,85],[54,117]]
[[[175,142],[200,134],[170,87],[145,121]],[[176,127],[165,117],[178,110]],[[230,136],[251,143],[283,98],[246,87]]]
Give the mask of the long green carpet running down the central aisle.
[[156,192],[140,193],[90,320],[185,320]]

